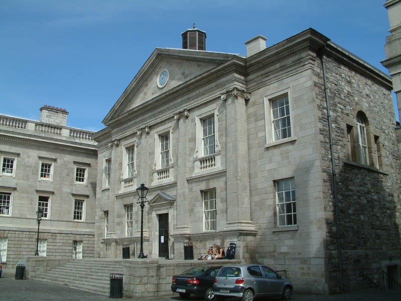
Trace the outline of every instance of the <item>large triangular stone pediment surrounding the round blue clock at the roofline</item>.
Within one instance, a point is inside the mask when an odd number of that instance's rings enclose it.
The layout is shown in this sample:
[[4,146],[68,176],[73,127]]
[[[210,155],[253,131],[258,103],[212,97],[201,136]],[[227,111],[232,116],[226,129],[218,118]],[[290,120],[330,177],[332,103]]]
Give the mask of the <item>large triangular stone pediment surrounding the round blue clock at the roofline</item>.
[[[107,126],[133,108],[162,94],[168,94],[174,88],[205,74],[235,56],[238,55],[157,48],[125,89],[103,123]],[[160,87],[158,78],[164,70],[168,73],[168,79],[165,85]]]

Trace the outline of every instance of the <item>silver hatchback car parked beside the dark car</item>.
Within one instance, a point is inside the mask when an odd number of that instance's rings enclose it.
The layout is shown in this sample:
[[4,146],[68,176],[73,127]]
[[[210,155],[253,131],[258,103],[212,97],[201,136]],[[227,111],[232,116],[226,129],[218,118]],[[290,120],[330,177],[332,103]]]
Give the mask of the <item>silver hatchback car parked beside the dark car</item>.
[[291,281],[281,277],[270,267],[260,264],[223,266],[213,284],[217,301],[225,297],[240,297],[252,301],[255,297],[281,295],[289,300],[292,294]]

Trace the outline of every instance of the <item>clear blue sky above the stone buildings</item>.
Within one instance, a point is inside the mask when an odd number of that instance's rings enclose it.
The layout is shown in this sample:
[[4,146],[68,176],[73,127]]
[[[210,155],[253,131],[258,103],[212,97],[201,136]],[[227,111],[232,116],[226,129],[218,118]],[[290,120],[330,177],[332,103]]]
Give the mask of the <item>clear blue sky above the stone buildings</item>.
[[259,34],[269,47],[311,27],[388,74],[384,2],[1,0],[0,112],[39,120],[46,104],[66,109],[69,126],[100,130],[154,49],[180,48],[192,23],[208,51],[242,55]]

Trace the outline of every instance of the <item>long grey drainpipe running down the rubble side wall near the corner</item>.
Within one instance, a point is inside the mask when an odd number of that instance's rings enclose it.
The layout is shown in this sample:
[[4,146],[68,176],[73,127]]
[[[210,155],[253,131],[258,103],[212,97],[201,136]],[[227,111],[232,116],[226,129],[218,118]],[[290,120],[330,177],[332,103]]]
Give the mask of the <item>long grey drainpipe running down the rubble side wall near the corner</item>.
[[327,106],[327,122],[329,128],[329,138],[330,138],[330,153],[331,153],[331,173],[333,176],[333,190],[334,190],[334,207],[335,207],[335,221],[336,221],[336,229],[337,229],[337,256],[340,270],[340,290],[343,292],[343,281],[342,281],[342,259],[341,259],[341,243],[340,243],[340,224],[338,218],[338,199],[337,199],[337,178],[335,174],[335,160],[334,160],[334,146],[333,146],[333,133],[331,130],[331,115],[330,115],[330,102],[329,102],[329,89],[327,88],[326,82],[326,68],[324,62],[324,54],[321,55],[322,68],[323,68],[323,81],[324,81],[324,95],[326,98],[326,106]]

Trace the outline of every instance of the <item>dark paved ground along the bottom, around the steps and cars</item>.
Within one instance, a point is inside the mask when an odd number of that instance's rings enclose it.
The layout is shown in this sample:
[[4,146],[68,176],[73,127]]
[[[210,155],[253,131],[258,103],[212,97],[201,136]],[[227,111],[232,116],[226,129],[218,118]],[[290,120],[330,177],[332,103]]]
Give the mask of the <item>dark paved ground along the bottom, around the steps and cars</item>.
[[[128,300],[129,298],[123,298]],[[36,280],[16,280],[14,275],[3,274],[0,278],[0,300],[4,301],[110,301],[106,295],[73,289],[69,286],[49,284]],[[132,299],[131,299],[132,300]],[[178,295],[136,298],[136,301],[178,301]],[[202,301],[200,297],[190,297],[189,301]],[[231,298],[227,301],[239,301]],[[279,300],[266,298],[259,300]],[[400,301],[401,291],[381,291],[370,289],[355,293],[336,295],[293,295],[293,301]]]

